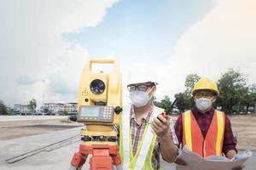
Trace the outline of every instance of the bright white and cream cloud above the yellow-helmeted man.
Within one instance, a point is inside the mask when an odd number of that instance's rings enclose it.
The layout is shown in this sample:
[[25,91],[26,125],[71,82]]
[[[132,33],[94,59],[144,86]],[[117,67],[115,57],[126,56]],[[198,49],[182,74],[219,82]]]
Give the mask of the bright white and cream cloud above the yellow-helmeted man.
[[158,66],[161,90],[170,90],[166,94],[173,96],[183,91],[188,74],[196,73],[216,81],[228,68],[240,70],[249,82],[255,83],[255,8],[254,0],[219,1],[202,20],[183,33],[169,63]]

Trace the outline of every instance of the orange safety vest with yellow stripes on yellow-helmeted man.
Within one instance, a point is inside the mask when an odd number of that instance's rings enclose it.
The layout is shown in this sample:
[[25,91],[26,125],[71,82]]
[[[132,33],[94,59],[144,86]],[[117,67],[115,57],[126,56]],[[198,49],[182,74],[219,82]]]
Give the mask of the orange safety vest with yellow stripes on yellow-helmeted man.
[[211,125],[204,138],[201,128],[195,120],[192,111],[182,114],[183,121],[183,146],[186,144],[189,150],[202,157],[222,156],[224,140],[225,115],[224,112],[214,111]]

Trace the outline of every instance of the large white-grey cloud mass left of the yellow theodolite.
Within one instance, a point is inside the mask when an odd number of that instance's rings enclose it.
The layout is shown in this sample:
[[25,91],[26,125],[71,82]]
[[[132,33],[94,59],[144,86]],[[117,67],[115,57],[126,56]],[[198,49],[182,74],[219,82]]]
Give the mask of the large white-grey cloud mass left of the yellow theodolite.
[[[0,99],[75,101],[86,49],[63,34],[97,26],[116,0],[1,1]],[[45,80],[45,82],[42,82]],[[61,90],[67,93],[59,93]]]

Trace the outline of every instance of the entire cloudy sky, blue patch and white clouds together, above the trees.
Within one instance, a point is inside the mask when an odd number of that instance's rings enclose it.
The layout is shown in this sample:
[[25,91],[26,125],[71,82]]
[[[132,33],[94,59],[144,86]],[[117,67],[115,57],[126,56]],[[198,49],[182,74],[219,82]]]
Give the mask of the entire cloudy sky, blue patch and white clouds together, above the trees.
[[189,74],[217,81],[233,68],[256,82],[254,0],[2,2],[0,99],[6,104],[35,98],[40,105],[43,96],[77,101],[90,57],[118,59],[124,87],[129,75],[156,75],[157,99],[182,92]]

